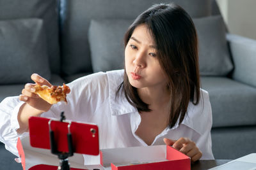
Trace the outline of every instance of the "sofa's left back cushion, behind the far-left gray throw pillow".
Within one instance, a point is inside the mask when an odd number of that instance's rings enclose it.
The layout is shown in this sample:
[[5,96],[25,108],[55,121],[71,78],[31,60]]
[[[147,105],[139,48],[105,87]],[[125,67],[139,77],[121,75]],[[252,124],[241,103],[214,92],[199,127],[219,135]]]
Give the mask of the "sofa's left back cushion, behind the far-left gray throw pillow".
[[47,48],[53,73],[60,73],[60,46],[58,38],[58,13],[56,0],[0,0],[0,20],[42,18],[44,20]]

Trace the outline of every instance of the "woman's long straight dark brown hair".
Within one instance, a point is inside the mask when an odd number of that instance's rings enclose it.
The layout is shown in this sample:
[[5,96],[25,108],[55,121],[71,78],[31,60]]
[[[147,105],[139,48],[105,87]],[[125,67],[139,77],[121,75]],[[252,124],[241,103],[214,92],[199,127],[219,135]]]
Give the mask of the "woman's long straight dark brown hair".
[[[138,25],[145,24],[157,46],[157,59],[167,75],[170,92],[169,127],[172,128],[187,113],[189,101],[200,100],[200,76],[198,66],[198,39],[195,25],[188,13],[176,4],[155,4],[141,13],[131,24],[124,37],[127,45]],[[126,72],[125,72],[126,73]],[[124,87],[122,89],[122,87]],[[139,112],[150,111],[129,83],[127,74],[116,95],[124,90],[125,97]],[[179,118],[180,117],[180,118]]]

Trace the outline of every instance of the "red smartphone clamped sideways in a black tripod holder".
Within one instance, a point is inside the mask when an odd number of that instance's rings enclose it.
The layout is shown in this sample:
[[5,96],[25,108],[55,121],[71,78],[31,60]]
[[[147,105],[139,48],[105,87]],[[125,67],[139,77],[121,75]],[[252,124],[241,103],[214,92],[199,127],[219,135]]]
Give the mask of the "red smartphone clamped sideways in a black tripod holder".
[[[49,121],[49,118],[29,118],[31,146],[51,149]],[[68,124],[68,122],[51,120],[51,131],[54,132],[54,141],[58,152],[68,152]],[[72,134],[74,153],[99,155],[99,129],[97,125],[71,122],[70,132]]]

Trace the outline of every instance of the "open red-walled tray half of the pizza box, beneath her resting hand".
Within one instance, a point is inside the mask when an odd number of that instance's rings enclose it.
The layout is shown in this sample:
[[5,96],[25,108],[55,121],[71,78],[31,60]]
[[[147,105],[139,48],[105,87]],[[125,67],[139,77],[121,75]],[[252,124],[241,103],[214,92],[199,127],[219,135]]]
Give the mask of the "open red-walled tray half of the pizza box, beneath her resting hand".
[[187,155],[166,145],[104,149],[100,151],[100,164],[111,170],[191,169]]

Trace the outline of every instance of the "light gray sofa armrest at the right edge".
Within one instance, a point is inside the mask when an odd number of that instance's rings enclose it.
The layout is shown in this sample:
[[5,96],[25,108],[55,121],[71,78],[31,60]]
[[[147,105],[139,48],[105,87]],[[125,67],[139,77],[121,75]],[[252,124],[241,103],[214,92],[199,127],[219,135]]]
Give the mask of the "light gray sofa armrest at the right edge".
[[227,34],[234,62],[234,80],[256,87],[256,40]]

